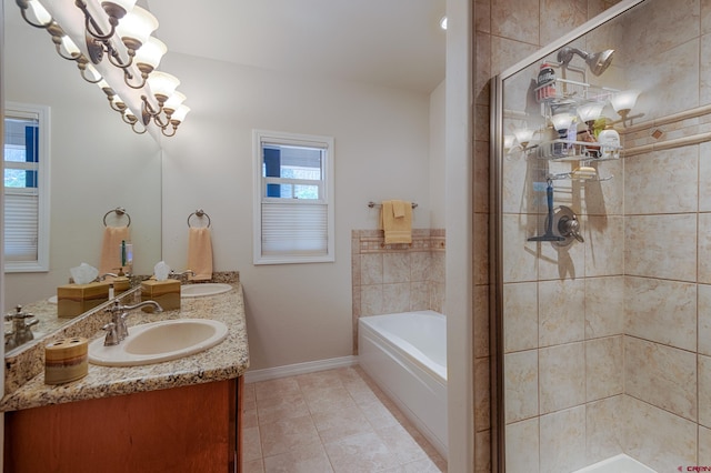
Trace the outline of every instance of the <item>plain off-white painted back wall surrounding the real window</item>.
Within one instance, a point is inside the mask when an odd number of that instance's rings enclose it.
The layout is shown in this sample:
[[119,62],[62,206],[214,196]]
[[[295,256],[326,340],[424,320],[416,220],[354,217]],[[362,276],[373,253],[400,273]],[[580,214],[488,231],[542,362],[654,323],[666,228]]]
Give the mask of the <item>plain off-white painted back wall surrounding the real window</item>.
[[[429,94],[168,56],[199,107],[162,142],[163,259],[186,264],[186,218],[204,209],[216,270],[244,286],[251,369],[351,355],[351,231],[378,228],[368,202],[418,202],[413,228],[430,227]],[[252,264],[252,129],[334,138],[334,263]]]

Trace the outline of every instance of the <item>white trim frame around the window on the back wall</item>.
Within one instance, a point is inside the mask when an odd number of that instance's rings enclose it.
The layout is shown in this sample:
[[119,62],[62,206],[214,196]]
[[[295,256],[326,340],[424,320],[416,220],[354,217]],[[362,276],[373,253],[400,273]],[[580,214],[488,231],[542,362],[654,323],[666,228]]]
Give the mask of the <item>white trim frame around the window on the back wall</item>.
[[[326,177],[326,189],[323,203],[327,210],[328,248],[323,255],[264,255],[262,254],[262,153],[261,143],[268,141],[274,144],[296,144],[303,147],[326,148],[326,161],[323,173]],[[252,131],[252,155],[253,155],[253,263],[257,264],[291,264],[291,263],[326,263],[336,261],[336,223],[334,223],[334,173],[333,173],[333,138],[311,134],[286,133],[281,131],[253,130]],[[286,203],[286,202],[281,202]]]

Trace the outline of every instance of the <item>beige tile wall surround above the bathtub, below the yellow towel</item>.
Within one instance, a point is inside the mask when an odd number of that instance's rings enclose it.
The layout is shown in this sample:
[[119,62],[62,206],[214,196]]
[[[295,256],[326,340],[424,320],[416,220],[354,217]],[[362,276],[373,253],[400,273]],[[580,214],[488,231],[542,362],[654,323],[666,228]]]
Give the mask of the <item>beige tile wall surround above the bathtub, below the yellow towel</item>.
[[412,244],[384,244],[382,230],[353,230],[353,333],[361,315],[443,313],[444,250],[441,229],[413,229]]

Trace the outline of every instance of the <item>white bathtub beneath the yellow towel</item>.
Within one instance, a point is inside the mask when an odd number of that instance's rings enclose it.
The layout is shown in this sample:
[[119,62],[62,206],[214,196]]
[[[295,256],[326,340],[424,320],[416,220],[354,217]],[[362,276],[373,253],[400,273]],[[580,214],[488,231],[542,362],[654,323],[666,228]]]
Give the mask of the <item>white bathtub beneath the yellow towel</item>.
[[361,316],[363,371],[447,457],[447,319],[433,311]]

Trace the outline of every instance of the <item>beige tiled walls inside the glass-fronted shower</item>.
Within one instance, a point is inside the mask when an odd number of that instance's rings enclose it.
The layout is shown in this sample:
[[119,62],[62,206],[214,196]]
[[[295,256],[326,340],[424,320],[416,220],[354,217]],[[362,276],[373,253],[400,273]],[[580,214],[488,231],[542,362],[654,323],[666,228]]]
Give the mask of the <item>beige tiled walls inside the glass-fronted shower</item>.
[[711,120],[698,109],[711,102],[698,60],[710,18],[704,1],[648,0],[590,38],[619,41],[611,80],[644,90],[644,117],[623,133],[627,155],[600,163],[612,180],[554,183],[557,205],[582,215],[584,244],[525,242],[542,230],[538,170],[515,152],[504,163],[507,471],[571,471],[621,452],[658,471],[711,462]]

